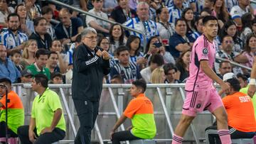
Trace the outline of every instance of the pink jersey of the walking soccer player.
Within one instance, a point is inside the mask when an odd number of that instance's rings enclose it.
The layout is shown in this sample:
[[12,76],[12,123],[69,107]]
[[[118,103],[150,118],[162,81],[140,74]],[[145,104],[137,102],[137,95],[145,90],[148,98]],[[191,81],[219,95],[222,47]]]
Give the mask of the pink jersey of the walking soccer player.
[[208,60],[211,68],[215,62],[215,45],[210,43],[205,35],[196,39],[191,51],[189,77],[186,81],[186,91],[208,91],[213,88],[213,80],[200,67],[201,60]]

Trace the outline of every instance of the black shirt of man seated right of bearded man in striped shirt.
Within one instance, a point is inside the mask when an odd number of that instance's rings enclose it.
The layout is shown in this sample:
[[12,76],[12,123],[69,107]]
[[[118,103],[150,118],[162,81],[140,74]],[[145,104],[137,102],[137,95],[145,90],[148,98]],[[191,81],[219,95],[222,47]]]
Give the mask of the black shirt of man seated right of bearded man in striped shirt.
[[46,50],[50,50],[50,44],[52,43],[52,39],[49,33],[46,33],[44,35],[45,39],[43,40],[38,33],[34,32],[29,36],[29,40],[33,39],[36,40],[36,43],[38,44],[39,48],[44,48]]

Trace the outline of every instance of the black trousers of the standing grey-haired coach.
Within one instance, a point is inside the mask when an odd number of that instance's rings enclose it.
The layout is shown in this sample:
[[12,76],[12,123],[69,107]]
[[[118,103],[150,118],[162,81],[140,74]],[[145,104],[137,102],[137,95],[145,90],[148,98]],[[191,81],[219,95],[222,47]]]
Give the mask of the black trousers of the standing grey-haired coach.
[[78,113],[80,128],[75,137],[75,144],[90,144],[91,131],[99,111],[99,102],[73,100]]

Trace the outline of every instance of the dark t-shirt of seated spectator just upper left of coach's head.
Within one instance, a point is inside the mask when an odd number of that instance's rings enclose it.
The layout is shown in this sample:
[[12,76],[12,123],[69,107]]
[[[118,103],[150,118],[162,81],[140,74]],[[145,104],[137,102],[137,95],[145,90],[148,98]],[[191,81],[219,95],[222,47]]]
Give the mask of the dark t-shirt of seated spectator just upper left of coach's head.
[[[78,28],[82,26],[82,21],[80,18],[70,18],[72,23],[72,28],[63,29],[63,23],[59,23],[55,27],[55,35],[58,40],[63,38],[70,38],[78,34]],[[71,36],[70,36],[71,33]]]

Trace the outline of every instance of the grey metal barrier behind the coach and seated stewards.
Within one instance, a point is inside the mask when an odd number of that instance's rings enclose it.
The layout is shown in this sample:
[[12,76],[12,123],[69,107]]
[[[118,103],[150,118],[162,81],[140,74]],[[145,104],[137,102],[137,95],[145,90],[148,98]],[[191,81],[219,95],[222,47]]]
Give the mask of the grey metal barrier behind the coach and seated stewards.
[[[49,87],[59,94],[66,120],[66,137],[60,143],[73,143],[79,128],[79,121],[71,97],[71,85],[50,84]],[[129,96],[129,87],[131,84],[103,85],[99,116],[92,131],[92,140],[97,140],[100,144],[110,141],[110,130],[132,99]],[[154,104],[157,143],[170,143],[171,141],[171,135],[174,133],[174,128],[181,116],[183,100],[185,99],[183,88],[184,84],[147,85],[146,96]],[[35,93],[31,90],[31,84],[14,84],[13,89],[21,96],[25,109],[25,124],[28,124]],[[200,140],[205,139],[205,128],[211,126],[213,120],[213,116],[208,111],[199,113],[191,127],[188,128],[184,141],[201,143]],[[124,131],[129,126],[131,126],[131,121],[127,120],[117,131]]]

